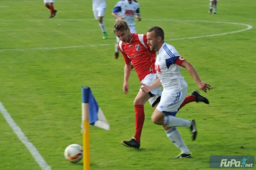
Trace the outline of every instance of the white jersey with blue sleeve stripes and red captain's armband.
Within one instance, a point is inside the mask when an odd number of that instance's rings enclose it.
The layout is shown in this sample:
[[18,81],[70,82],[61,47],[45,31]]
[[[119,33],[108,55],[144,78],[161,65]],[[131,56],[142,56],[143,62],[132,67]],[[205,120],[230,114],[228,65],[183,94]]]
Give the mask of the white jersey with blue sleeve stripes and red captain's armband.
[[164,91],[181,92],[187,88],[187,83],[180,73],[180,65],[185,59],[169,44],[163,43],[157,52],[155,68]]

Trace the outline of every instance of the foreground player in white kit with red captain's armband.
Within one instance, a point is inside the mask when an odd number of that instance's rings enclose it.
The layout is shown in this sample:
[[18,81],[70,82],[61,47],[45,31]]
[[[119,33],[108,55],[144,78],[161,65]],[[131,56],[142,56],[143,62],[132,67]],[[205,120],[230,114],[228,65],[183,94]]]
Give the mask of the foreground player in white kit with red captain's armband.
[[153,27],[149,29],[147,39],[150,50],[157,51],[155,62],[157,79],[151,85],[142,84],[141,88],[144,93],[147,93],[160,85],[163,86],[160,102],[152,114],[151,120],[154,124],[172,127],[166,130],[167,136],[181,151],[175,158],[189,158],[191,157],[190,150],[176,127],[189,127],[192,133],[192,141],[196,139],[197,129],[194,119],[189,121],[175,117],[187,94],[187,83],[180,74],[180,67],[187,69],[201,90],[207,92],[207,89],[210,90],[210,85],[202,82],[194,67],[181,57],[172,45],[164,42],[162,28]]

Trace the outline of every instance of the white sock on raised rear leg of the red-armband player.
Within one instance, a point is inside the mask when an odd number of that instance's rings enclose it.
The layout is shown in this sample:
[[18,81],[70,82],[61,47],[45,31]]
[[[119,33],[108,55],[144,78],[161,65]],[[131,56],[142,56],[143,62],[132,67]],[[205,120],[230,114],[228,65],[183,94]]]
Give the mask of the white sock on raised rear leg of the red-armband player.
[[181,119],[181,118],[175,117],[175,116],[164,116],[163,125],[168,126],[168,127],[172,127],[172,126],[190,127],[191,122],[189,120]]

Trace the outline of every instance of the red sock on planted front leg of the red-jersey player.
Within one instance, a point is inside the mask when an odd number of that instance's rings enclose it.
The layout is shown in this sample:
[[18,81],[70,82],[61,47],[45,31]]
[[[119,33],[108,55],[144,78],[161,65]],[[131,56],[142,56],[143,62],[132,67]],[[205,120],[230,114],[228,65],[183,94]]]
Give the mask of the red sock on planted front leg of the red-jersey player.
[[145,120],[144,105],[134,105],[135,109],[135,134],[134,138],[140,142],[142,127]]

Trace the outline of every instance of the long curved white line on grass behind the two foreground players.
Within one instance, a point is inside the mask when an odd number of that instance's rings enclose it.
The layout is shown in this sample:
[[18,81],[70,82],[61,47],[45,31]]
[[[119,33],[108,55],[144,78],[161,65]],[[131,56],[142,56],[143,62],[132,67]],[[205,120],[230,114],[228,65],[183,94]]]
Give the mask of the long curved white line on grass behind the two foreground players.
[[[38,19],[38,20],[0,20],[0,21],[93,21],[93,19],[56,19],[56,20],[45,20],[45,19]],[[113,20],[110,20],[113,21]],[[145,21],[174,21],[174,22],[205,22],[205,23],[225,23],[225,24],[232,24],[232,25],[241,25],[247,26],[245,29],[241,29],[238,31],[231,31],[225,32],[221,34],[212,34],[212,35],[203,35],[203,36],[196,36],[196,37],[185,37],[185,38],[176,38],[176,39],[167,39],[166,41],[174,41],[174,40],[186,40],[186,39],[195,39],[195,38],[202,38],[202,37],[214,37],[226,34],[234,34],[242,31],[247,31],[252,29],[253,26],[243,23],[229,23],[229,22],[221,22],[221,21],[204,21],[204,20],[155,20],[155,19],[145,19]],[[61,49],[61,48],[79,48],[79,47],[96,47],[96,46],[105,46],[111,44],[96,44],[96,45],[79,45],[79,46],[68,46],[68,47],[46,47],[46,48],[13,48],[13,49],[2,49],[0,51],[20,51],[20,50],[46,50],[46,49]]]

